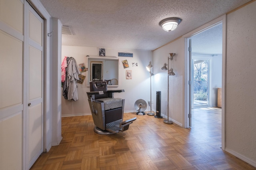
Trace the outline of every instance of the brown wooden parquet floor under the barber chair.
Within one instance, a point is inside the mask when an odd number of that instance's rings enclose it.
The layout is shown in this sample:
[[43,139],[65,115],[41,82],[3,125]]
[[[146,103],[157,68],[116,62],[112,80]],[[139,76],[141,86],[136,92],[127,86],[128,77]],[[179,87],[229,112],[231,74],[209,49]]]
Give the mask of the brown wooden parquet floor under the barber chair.
[[[209,109],[213,111],[209,112]],[[252,170],[221,147],[221,109],[193,109],[192,128],[137,117],[125,132],[100,135],[92,116],[62,118],[63,139],[31,170]]]

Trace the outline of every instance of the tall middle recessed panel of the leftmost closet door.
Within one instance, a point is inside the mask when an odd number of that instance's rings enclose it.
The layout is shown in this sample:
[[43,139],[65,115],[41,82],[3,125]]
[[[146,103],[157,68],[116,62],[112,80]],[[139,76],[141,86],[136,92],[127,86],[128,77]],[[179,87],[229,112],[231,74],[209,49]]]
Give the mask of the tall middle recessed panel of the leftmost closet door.
[[22,41],[0,30],[0,109],[22,104]]

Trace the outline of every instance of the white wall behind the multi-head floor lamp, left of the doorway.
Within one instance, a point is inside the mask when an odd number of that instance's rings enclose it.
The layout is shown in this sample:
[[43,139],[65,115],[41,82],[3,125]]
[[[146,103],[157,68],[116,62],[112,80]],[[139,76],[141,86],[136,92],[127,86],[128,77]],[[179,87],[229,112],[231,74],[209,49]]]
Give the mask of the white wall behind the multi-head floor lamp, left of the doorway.
[[[168,34],[168,32],[166,32]],[[176,53],[170,61],[170,68],[176,75],[169,76],[169,118],[176,124],[182,126],[184,113],[184,39],[180,38],[153,52],[154,90],[161,91],[161,114],[167,117],[167,91],[168,91],[168,71],[162,70],[164,63],[168,64],[168,53]],[[169,69],[170,69],[169,68]],[[156,99],[156,93],[152,98]]]

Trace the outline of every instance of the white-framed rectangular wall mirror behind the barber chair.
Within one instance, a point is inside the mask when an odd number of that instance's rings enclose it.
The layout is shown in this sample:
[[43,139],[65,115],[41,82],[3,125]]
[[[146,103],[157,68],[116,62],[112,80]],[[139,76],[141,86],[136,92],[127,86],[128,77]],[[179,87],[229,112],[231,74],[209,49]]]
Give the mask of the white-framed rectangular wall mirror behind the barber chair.
[[119,79],[118,57],[87,57],[87,86],[90,81],[104,80],[108,86],[117,87]]

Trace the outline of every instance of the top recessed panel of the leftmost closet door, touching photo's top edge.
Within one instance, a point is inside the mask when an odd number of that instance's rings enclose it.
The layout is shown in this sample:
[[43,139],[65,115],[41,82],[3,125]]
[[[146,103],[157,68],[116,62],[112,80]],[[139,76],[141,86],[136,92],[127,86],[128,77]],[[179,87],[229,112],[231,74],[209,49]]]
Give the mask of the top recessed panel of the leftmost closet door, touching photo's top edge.
[[0,21],[23,34],[23,4],[20,0],[0,0]]

